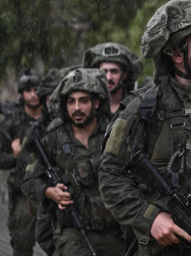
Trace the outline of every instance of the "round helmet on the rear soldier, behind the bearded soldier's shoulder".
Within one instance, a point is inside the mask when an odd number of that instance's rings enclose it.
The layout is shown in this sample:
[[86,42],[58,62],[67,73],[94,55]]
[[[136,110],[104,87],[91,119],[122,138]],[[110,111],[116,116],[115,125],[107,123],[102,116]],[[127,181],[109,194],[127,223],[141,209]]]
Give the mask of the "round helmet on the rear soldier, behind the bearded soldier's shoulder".
[[101,62],[116,62],[128,72],[128,79],[136,80],[142,70],[140,58],[129,48],[118,43],[102,43],[84,52],[83,66],[99,68]]

